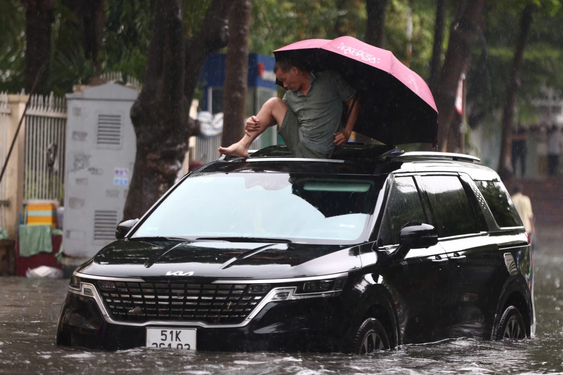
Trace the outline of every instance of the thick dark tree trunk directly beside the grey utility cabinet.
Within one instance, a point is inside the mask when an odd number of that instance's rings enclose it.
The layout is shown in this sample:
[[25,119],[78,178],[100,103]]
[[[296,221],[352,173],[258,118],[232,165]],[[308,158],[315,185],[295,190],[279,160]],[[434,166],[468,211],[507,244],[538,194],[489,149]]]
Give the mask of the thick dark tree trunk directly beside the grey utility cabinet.
[[138,218],[172,185],[187,149],[181,0],[158,0],[145,82],[131,107],[137,152],[123,217]]

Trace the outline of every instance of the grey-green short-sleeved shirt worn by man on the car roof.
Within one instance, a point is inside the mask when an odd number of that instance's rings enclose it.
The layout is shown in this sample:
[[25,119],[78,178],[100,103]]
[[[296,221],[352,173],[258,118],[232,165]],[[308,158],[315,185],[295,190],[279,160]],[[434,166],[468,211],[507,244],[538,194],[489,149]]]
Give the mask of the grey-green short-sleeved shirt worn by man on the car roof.
[[283,101],[299,120],[299,138],[310,150],[329,153],[334,133],[342,119],[342,101],[354,97],[355,91],[334,70],[311,72],[311,88],[306,95],[287,91]]

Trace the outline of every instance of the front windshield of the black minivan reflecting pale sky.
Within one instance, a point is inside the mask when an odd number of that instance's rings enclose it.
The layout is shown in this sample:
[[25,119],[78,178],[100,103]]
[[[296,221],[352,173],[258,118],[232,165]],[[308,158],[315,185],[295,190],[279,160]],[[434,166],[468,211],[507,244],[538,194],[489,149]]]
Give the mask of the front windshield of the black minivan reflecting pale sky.
[[195,174],[161,202],[132,238],[263,237],[349,244],[362,236],[382,186],[378,177]]

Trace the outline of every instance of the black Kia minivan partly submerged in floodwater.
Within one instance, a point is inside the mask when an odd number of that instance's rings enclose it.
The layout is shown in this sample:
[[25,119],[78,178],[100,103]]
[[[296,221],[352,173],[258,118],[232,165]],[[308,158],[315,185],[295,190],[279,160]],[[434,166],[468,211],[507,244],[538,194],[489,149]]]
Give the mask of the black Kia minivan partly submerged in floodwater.
[[116,237],[75,270],[57,344],[364,354],[534,335],[528,234],[468,155],[223,157]]

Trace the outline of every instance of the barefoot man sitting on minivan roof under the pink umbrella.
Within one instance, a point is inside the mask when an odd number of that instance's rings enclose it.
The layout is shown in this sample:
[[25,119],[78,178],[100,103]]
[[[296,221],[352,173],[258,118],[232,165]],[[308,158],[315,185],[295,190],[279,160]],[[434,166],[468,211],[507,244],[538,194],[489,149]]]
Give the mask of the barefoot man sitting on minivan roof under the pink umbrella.
[[[229,147],[219,147],[224,155],[248,156],[248,147],[268,126],[278,124],[278,133],[295,157],[326,159],[334,144],[348,141],[358,117],[355,90],[334,70],[311,72],[289,60],[274,65],[276,78],[288,91],[283,99],[270,98],[256,116],[247,119],[244,137]],[[342,133],[342,102],[350,116]]]

